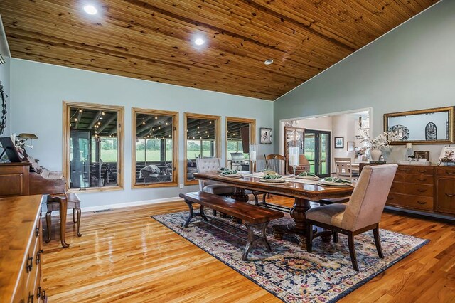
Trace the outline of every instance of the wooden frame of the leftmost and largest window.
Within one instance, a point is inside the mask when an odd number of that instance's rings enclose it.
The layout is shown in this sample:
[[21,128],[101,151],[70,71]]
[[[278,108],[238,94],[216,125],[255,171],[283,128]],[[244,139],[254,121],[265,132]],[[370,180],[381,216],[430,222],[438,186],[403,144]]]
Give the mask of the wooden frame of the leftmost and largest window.
[[[70,188],[70,115],[71,107],[87,110],[117,111],[117,185],[90,188]],[[63,177],[65,178],[65,188],[67,192],[97,192],[97,191],[119,191],[124,188],[124,107],[115,105],[103,105],[97,103],[68,102],[63,101]]]

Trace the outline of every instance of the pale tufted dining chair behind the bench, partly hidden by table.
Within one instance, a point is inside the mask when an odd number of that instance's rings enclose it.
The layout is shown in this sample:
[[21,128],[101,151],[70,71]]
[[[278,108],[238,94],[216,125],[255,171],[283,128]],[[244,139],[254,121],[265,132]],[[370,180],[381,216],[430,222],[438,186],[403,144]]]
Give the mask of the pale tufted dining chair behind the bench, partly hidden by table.
[[[199,173],[218,171],[221,168],[221,159],[198,158],[196,159],[196,168]],[[232,196],[235,187],[216,181],[199,180],[199,190],[205,191],[206,193],[213,193],[218,196]],[[213,211],[213,216],[216,216],[216,211]]]

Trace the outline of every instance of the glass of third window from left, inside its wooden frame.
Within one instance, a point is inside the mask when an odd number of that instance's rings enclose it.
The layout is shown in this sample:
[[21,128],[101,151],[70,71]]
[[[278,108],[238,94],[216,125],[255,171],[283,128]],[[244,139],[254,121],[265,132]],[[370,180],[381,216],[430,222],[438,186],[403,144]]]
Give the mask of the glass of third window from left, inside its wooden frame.
[[195,180],[196,159],[217,156],[217,120],[186,116],[186,181]]

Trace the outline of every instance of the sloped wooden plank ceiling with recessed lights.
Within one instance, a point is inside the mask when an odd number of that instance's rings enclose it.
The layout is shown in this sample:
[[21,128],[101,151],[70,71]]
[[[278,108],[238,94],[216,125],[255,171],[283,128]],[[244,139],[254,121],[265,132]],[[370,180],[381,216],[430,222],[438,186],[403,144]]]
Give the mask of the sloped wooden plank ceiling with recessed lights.
[[85,0],[3,0],[0,14],[14,58],[275,100],[437,1],[92,0],[90,16]]

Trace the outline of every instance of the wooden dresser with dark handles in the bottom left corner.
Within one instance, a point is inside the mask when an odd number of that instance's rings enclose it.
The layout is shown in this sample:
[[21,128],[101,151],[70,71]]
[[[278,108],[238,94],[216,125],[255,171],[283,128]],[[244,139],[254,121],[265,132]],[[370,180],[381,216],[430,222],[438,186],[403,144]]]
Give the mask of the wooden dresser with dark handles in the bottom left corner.
[[43,196],[0,198],[0,302],[47,302],[41,287]]

